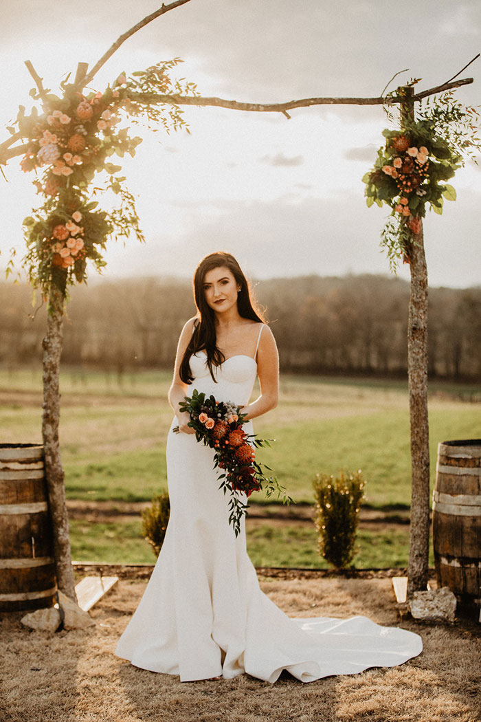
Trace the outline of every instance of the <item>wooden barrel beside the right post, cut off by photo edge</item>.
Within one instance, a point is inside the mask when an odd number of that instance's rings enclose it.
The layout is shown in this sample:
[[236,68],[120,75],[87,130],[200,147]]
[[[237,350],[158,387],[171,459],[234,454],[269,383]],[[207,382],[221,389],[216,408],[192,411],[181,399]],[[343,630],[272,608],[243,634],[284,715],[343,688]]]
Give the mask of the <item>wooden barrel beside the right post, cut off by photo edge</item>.
[[480,605],[481,439],[438,446],[433,547],[438,584]]

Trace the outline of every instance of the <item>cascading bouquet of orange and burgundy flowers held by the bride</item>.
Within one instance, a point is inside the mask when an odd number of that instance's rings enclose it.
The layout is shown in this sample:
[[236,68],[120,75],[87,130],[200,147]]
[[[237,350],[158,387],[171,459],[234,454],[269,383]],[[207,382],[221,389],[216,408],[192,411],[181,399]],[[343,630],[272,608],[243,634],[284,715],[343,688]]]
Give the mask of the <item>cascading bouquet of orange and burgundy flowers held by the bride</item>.
[[[195,430],[195,438],[215,450],[213,468],[220,469],[219,489],[223,489],[224,494],[231,492],[229,523],[236,536],[242,516],[247,513],[247,503],[239,493],[248,498],[255,491],[263,490],[266,497],[277,492],[284,504],[291,503],[291,497],[286,496],[278,480],[266,476],[264,469],[270,471],[269,467],[255,461],[255,447],[270,446],[270,443],[244,432],[245,417],[239,406],[230,401],[216,401],[213,396],[206,398],[205,393],[194,389],[192,396],[186,396],[180,404],[180,411],[190,414],[188,426]],[[178,433],[179,427],[174,431]]]

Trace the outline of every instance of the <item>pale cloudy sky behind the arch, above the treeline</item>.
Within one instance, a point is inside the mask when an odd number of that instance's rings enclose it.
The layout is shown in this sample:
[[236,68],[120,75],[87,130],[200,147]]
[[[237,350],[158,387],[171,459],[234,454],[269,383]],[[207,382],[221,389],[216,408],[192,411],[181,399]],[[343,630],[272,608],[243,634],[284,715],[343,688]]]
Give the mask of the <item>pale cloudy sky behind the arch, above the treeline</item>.
[[[159,5],[0,0],[0,140],[17,106],[29,105],[25,60],[56,92],[78,61],[94,64]],[[190,0],[127,40],[92,87],[179,56],[177,77],[197,83],[201,95],[260,103],[368,97],[406,68],[397,82],[441,84],[479,51],[479,0]],[[466,76],[475,82],[456,95],[480,105],[481,60]],[[234,253],[257,278],[388,273],[379,250],[387,208],[368,209],[361,183],[387,126],[383,110],[321,106],[291,116],[187,108],[190,135],[142,131],[136,158],[123,167],[147,243],[112,244],[105,277],[191,276],[216,250]],[[37,204],[18,160],[5,169],[8,183],[0,178],[0,266],[11,247],[22,256],[22,219]],[[481,164],[469,162],[453,185],[458,200],[425,221],[432,286],[481,283]]]

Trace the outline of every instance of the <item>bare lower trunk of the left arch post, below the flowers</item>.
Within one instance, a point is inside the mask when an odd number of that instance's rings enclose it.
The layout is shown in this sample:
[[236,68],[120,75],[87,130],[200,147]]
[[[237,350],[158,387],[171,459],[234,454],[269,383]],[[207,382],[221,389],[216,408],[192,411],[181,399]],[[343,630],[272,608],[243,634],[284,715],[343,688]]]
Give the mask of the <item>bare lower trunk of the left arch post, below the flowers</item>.
[[65,474],[58,439],[58,424],[60,421],[59,373],[64,300],[64,293],[53,284],[49,300],[47,334],[43,339],[42,436],[48,505],[53,526],[53,556],[56,564],[57,585],[64,594],[76,601],[74,569],[71,562],[69,516],[66,508],[65,485],[63,483]]

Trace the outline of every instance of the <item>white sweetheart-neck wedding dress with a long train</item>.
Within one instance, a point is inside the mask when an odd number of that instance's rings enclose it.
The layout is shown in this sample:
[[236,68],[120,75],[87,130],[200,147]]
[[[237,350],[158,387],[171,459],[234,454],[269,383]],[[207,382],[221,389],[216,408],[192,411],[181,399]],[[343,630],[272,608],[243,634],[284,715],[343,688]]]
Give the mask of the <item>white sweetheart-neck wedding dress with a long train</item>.
[[[228,358],[216,369],[218,383],[202,352],[191,357],[190,368],[192,389],[248,403],[257,375],[254,358]],[[213,451],[195,435],[172,428],[170,521],[144,596],[119,640],[119,657],[142,669],[180,675],[182,682],[243,672],[275,682],[283,669],[312,682],[402,664],[420,653],[418,635],[366,617],[291,619],[281,612],[260,590],[246,552],[244,521],[237,538],[229,526],[229,492],[219,490]],[[244,428],[252,432],[250,422]]]

